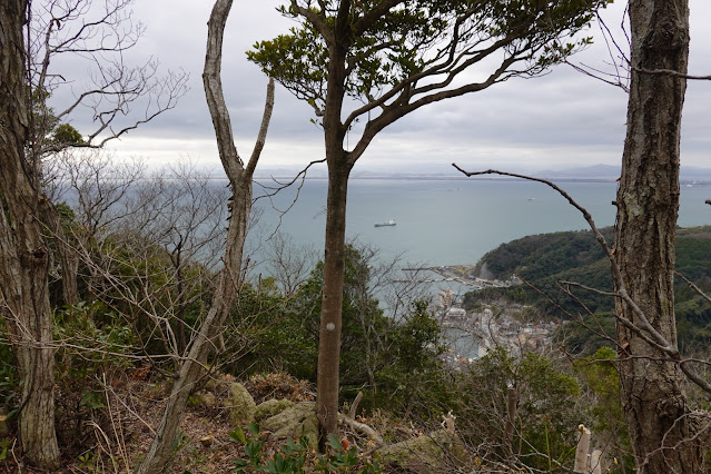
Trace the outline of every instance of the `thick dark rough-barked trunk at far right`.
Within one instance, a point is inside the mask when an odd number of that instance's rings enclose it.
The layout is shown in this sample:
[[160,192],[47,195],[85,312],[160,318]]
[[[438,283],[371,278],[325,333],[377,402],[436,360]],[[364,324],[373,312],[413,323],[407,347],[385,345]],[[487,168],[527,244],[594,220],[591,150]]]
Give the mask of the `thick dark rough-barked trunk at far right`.
[[[652,326],[677,343],[674,236],[687,73],[688,0],[630,1],[632,79],[618,190],[616,258],[626,289]],[[634,319],[618,302],[620,317]],[[640,473],[703,471],[678,365],[618,325],[620,384]]]

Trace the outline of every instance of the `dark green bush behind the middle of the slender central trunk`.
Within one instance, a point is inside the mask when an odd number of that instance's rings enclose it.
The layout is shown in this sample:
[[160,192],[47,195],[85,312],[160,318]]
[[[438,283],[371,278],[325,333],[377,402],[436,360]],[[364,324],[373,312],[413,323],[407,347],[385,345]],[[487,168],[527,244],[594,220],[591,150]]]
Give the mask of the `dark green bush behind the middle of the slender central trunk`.
[[[253,373],[284,369],[297,378],[314,381],[318,359],[323,261],[316,265],[297,295],[286,300],[271,282],[258,288],[246,287],[241,294],[236,320],[251,320],[247,337],[251,342],[246,358]],[[346,247],[344,277],[343,337],[340,375],[345,385],[361,386],[366,378],[366,332],[386,333],[391,322],[383,315],[378,302],[369,294],[369,268],[363,255]],[[299,354],[294,357],[294,354]]]

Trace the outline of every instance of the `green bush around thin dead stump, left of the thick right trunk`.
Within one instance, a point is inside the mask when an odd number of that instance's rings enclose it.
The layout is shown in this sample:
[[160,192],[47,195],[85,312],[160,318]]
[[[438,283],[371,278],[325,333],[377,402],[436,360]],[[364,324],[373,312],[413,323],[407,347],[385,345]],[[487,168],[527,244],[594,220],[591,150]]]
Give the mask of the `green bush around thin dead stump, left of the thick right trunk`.
[[472,364],[461,384],[462,406],[455,413],[471,445],[504,443],[507,392],[515,387],[513,452],[519,460],[534,470],[549,470],[574,455],[576,427],[587,419],[580,406],[581,386],[551,359],[495,347]]

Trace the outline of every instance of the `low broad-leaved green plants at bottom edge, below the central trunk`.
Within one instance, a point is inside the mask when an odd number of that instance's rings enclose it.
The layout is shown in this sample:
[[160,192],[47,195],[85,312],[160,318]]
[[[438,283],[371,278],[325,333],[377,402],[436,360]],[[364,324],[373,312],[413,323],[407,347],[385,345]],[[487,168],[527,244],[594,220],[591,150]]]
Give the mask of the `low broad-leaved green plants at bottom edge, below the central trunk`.
[[326,454],[315,454],[308,441],[287,440],[274,454],[265,458],[265,442],[259,425],[249,424],[248,433],[241,427],[229,433],[229,438],[244,450],[244,457],[233,460],[236,472],[265,472],[270,474],[323,473],[379,473],[377,464],[361,460],[355,447],[346,451],[333,434],[328,436]]

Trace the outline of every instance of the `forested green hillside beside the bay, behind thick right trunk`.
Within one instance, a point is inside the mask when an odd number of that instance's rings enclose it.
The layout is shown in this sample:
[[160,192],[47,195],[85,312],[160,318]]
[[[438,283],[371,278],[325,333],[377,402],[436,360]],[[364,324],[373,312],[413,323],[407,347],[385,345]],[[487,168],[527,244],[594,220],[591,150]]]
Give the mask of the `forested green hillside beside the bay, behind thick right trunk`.
[[[602,229],[602,234],[608,241],[612,241],[611,227]],[[563,290],[565,285],[559,285],[559,282],[574,282],[600,290],[612,290],[608,259],[591,231],[542,234],[502,244],[482,257],[477,268],[480,271],[484,268],[498,279],[517,274],[530,285],[472,292],[466,295],[468,305],[505,297],[517,303],[534,304],[545,315],[570,317],[565,314],[569,312],[574,316],[584,316],[590,310],[599,316],[606,329],[614,327],[610,314],[614,307],[611,297],[571,287],[572,294],[579,298],[576,300]],[[711,226],[678,230],[677,270],[704,292],[711,289]],[[711,305],[680,276],[675,278],[675,288],[681,348],[707,344],[711,339]],[[592,343],[586,347],[587,350],[602,344],[599,338],[591,340],[589,334],[572,338],[574,348],[582,348],[583,342]]]

